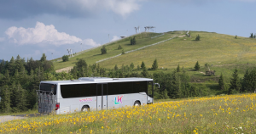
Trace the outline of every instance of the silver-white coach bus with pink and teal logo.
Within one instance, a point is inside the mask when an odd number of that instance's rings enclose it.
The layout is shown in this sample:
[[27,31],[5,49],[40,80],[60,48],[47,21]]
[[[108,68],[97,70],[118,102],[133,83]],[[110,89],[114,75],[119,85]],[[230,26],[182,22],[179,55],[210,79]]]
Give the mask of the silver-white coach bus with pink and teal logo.
[[75,111],[117,109],[154,102],[153,79],[81,77],[71,81],[41,81],[38,112],[67,114]]

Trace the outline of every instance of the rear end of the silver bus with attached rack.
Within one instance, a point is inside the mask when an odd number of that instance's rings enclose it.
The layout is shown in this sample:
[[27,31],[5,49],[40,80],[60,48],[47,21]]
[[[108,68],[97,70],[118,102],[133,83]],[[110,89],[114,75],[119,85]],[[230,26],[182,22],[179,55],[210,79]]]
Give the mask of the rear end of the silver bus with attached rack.
[[55,113],[55,110],[60,109],[60,103],[57,103],[56,98],[57,84],[41,82],[38,94],[38,112],[40,114]]

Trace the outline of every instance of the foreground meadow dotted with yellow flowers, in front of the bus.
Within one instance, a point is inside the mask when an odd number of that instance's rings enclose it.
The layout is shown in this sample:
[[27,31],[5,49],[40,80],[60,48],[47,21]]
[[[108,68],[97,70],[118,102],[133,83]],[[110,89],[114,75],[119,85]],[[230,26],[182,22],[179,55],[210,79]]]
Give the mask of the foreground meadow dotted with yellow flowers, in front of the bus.
[[0,124],[1,133],[253,133],[256,94],[49,115]]

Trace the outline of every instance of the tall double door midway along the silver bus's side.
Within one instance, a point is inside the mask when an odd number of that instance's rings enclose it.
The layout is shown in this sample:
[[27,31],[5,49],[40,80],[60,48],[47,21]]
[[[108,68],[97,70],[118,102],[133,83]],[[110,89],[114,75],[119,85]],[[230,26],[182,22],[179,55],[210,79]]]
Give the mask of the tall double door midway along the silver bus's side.
[[108,84],[97,84],[97,110],[108,109]]

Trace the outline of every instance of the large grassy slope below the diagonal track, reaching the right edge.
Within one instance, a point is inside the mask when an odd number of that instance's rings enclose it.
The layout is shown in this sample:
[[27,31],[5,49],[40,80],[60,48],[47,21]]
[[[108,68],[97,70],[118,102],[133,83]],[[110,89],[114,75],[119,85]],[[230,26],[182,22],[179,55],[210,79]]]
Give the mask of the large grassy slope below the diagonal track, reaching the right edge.
[[[223,64],[255,64],[256,40],[245,37],[222,35],[209,32],[192,31],[192,37],[175,38],[153,47],[146,47],[134,53],[127,53],[115,59],[103,61],[100,64],[113,68],[113,64],[141,64],[145,62],[148,68],[158,59],[159,67],[176,68],[180,64],[184,68],[193,68],[196,61],[201,66],[205,63],[215,66]],[[201,41],[195,41],[195,35],[201,36]]]

